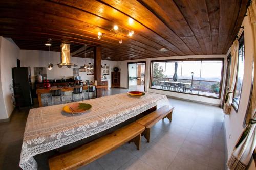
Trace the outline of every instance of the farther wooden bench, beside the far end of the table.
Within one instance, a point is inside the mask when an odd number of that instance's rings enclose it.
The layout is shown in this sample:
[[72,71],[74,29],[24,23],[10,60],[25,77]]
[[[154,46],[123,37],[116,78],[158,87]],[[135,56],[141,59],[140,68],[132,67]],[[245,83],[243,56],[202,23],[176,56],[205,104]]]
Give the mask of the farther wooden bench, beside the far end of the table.
[[174,107],[165,105],[136,121],[146,128],[142,135],[146,138],[147,142],[150,142],[150,128],[159,120],[168,118],[172,122],[173,109]]

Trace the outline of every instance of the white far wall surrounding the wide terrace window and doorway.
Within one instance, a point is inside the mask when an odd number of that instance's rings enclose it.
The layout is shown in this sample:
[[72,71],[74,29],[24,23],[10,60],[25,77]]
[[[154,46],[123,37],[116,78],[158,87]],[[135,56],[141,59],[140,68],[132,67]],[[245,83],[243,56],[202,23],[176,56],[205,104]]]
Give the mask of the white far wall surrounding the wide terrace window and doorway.
[[[148,59],[140,59],[140,60],[127,60],[127,61],[118,61],[117,65],[121,69],[121,87],[127,88],[127,63],[129,62],[138,62],[138,61],[146,61],[146,73],[145,73],[145,91],[154,92],[159,94],[165,94],[168,96],[173,96],[175,98],[193,100],[208,104],[220,105],[221,99],[214,99],[214,98],[207,98],[204,96],[198,95],[191,95],[191,94],[184,94],[184,93],[177,93],[171,91],[163,91],[157,89],[149,88],[149,81],[150,81],[150,64],[152,60],[170,60],[170,59],[184,59],[184,58],[225,58],[226,55],[191,55],[191,56],[172,56],[172,57],[159,57],[159,58],[148,58]],[[225,69],[226,68],[226,61],[224,62],[224,74],[223,80],[225,80]],[[214,71],[214,70],[213,70]],[[224,83],[222,84],[224,87]],[[224,89],[224,88],[222,88]]]

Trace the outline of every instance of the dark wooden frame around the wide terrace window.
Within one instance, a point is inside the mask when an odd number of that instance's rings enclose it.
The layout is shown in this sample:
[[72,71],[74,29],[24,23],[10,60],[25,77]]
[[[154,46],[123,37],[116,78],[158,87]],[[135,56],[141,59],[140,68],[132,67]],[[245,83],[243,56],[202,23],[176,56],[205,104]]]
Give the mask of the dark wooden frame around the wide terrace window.
[[[222,85],[223,85],[223,73],[224,73],[224,60],[225,60],[225,58],[187,58],[187,59],[151,60],[151,63],[150,63],[150,84],[149,84],[148,88],[155,89],[155,90],[162,90],[162,91],[188,94],[188,95],[203,96],[203,97],[206,97],[206,98],[221,99]],[[179,92],[179,91],[171,91],[171,90],[165,90],[165,89],[152,88],[151,86],[152,86],[153,63],[154,62],[175,62],[175,61],[222,61],[219,96],[215,97],[215,96],[208,96],[208,95],[202,95],[202,94],[194,94],[194,93],[186,93],[186,92]]]

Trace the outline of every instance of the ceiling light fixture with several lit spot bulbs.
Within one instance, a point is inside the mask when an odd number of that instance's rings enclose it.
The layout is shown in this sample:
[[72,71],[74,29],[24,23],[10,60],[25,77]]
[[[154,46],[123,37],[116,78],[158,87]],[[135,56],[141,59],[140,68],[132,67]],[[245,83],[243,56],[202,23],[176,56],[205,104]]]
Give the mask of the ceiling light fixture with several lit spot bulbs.
[[[110,30],[111,33],[106,34],[106,33],[101,33],[100,31],[98,32],[98,39],[101,39],[104,36],[109,36],[109,37],[113,37],[117,35],[120,36],[125,36],[125,37],[131,37],[134,34],[134,31],[129,31],[129,30],[125,30],[125,29],[120,29],[117,25],[115,25],[113,27],[113,29]],[[123,34],[121,34],[123,32]],[[122,39],[119,40],[119,43],[121,44],[123,42]]]

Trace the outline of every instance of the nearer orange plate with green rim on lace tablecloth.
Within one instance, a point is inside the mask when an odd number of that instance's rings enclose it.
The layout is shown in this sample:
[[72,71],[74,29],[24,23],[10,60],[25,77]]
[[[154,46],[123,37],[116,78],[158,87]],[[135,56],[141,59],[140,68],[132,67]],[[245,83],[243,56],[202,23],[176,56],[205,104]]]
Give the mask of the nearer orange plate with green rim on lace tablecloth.
[[92,108],[88,103],[71,103],[63,107],[63,111],[70,114],[83,113]]

